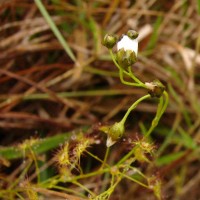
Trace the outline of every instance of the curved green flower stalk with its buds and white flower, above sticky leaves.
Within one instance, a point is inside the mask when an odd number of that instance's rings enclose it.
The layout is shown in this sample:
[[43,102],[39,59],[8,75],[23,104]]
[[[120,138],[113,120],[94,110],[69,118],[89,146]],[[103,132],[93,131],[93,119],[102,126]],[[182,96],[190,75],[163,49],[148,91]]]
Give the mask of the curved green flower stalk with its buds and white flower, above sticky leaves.
[[[158,125],[160,118],[165,112],[168,105],[168,93],[165,90],[165,86],[159,81],[154,80],[152,82],[143,83],[139,78],[137,78],[133,71],[132,65],[137,62],[138,55],[138,33],[134,30],[129,30],[126,34],[122,35],[120,39],[116,36],[105,35],[102,44],[109,49],[111,58],[119,70],[120,81],[124,85],[140,87],[147,90],[148,94],[139,98],[135,101],[127,110],[124,117],[120,122],[114,123],[112,126],[103,126],[100,128],[101,131],[107,134],[107,147],[112,146],[119,140],[125,132],[125,122],[136,106],[148,98],[158,98],[159,104],[149,130],[146,132],[145,137],[148,137],[155,127]],[[113,47],[117,45],[117,52],[113,53]],[[128,78],[128,80],[125,79]]]

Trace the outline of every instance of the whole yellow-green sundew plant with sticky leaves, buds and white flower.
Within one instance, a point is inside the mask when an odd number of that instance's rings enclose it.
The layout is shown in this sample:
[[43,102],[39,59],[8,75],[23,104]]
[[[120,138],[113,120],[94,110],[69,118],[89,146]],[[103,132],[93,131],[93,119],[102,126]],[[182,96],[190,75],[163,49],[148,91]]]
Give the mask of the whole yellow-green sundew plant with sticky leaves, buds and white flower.
[[[108,48],[112,60],[119,71],[121,83],[130,87],[139,87],[147,91],[146,95],[140,97],[127,109],[119,122],[115,122],[109,126],[99,126],[98,130],[100,134],[104,132],[107,135],[106,150],[103,153],[103,157],[98,157],[90,149],[94,145],[103,145],[104,142],[90,132],[87,134],[84,133],[83,130],[73,133],[71,137],[68,134],[62,134],[42,140],[30,139],[25,140],[14,148],[1,149],[1,155],[7,159],[23,157],[24,160],[22,163],[24,169],[21,175],[10,186],[9,190],[2,191],[2,197],[6,194],[9,195],[10,199],[15,199],[16,197],[24,199],[26,196],[29,199],[39,199],[40,193],[47,192],[51,194],[52,192],[52,194],[56,194],[56,191],[51,191],[51,189],[56,189],[66,191],[67,194],[64,193],[62,195],[67,199],[106,200],[110,199],[118,184],[123,179],[127,179],[133,185],[138,184],[147,188],[154,193],[157,199],[161,199],[161,182],[159,178],[153,175],[147,176],[139,167],[134,166],[134,163],[148,163],[149,166],[153,165],[150,157],[154,157],[155,146],[154,142],[150,140],[150,136],[166,110],[168,93],[160,81],[155,80],[143,83],[134,75],[134,63],[137,62],[138,54],[137,37],[138,33],[136,31],[129,30],[120,39],[117,39],[116,36],[106,34],[102,41],[102,44]],[[115,45],[117,45],[117,52],[113,53]],[[150,127],[147,127],[143,135],[140,135],[135,140],[125,137],[125,122],[130,113],[142,101],[152,98],[158,100],[158,106]],[[126,138],[124,141],[127,141],[128,151],[122,157],[119,157],[118,160],[110,163],[109,157],[111,156],[113,146],[117,146],[123,138]],[[66,141],[62,143],[62,140]],[[42,181],[42,171],[47,166],[43,165],[41,168],[39,167],[41,158],[38,155],[56,146],[56,144],[62,144],[54,153],[54,159],[52,160],[58,170],[58,174]],[[91,157],[99,163],[92,172],[85,171],[86,169],[81,162],[83,158],[86,159],[86,156]],[[3,157],[2,161],[6,165],[7,161]],[[31,178],[26,175],[30,170],[35,170]],[[86,184],[87,180],[88,183],[93,180],[93,183],[97,184],[95,183],[95,177],[97,179],[103,178],[103,183],[94,188],[88,187]],[[24,180],[22,181],[21,179]],[[29,179],[36,179],[37,183],[32,184]],[[83,180],[84,182],[82,182]],[[62,186],[63,184],[66,186]],[[75,188],[73,189],[73,187]]]

